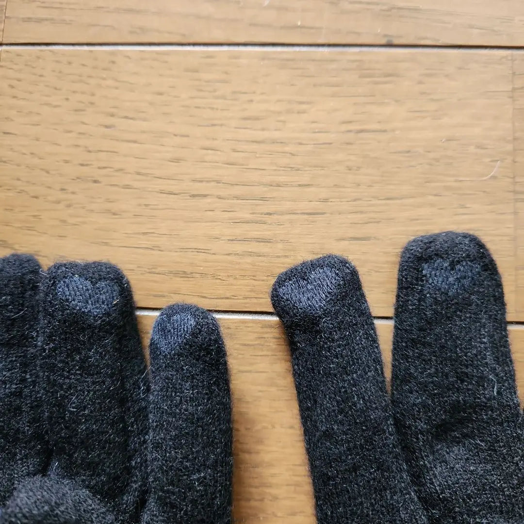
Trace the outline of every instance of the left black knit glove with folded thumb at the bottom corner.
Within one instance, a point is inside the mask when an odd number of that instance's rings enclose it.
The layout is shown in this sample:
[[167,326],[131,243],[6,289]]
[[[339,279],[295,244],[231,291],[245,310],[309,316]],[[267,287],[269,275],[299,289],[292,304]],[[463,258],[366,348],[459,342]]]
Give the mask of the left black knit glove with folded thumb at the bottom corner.
[[219,327],[170,306],[149,354],[116,267],[0,259],[1,524],[231,521]]

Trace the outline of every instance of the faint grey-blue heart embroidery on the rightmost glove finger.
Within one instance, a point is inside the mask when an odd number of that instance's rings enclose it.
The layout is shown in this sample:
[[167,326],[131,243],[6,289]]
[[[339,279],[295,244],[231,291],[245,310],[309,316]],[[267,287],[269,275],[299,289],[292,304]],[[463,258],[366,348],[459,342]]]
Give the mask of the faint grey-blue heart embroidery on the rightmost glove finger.
[[473,285],[480,272],[481,266],[469,260],[452,266],[448,260],[437,258],[422,267],[427,285],[449,294],[464,293]]

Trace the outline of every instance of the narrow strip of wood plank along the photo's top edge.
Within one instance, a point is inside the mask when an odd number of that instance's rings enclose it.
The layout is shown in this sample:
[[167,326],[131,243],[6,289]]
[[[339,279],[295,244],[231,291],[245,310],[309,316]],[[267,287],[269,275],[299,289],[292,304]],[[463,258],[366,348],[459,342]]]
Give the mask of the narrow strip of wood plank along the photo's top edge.
[[520,0],[9,0],[7,42],[521,46]]

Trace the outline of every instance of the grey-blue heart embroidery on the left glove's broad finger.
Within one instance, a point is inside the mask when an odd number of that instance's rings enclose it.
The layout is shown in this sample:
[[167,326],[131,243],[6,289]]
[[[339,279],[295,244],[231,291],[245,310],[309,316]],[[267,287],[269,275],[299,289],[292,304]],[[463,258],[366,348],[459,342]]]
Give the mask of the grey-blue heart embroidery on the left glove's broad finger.
[[109,311],[120,297],[114,282],[92,284],[85,278],[74,276],[62,280],[57,286],[58,296],[77,311],[101,315]]

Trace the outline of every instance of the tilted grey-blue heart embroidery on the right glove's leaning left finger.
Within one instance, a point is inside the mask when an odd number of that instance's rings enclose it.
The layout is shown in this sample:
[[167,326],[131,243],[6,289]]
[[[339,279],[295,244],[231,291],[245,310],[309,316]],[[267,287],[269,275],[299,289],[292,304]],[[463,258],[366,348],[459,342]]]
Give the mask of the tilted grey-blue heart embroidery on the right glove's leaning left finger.
[[278,294],[300,310],[320,313],[342,284],[342,276],[330,267],[313,269],[306,278],[286,282]]

